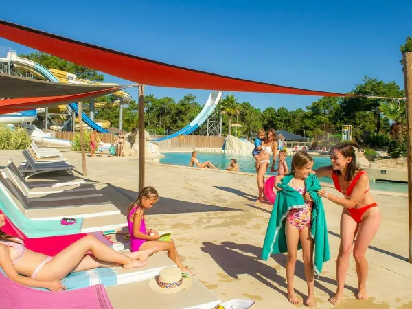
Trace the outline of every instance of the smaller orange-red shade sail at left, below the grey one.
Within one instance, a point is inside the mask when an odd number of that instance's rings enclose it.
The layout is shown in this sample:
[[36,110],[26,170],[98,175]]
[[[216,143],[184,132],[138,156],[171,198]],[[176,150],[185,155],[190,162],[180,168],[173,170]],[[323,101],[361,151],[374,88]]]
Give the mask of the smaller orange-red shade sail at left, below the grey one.
[[47,97],[17,98],[0,100],[0,114],[13,113],[17,111],[28,111],[33,108],[54,106],[58,104],[70,104],[73,102],[87,101],[99,98],[115,91],[126,88],[125,86],[112,87],[99,91],[78,93],[73,95],[54,95]]

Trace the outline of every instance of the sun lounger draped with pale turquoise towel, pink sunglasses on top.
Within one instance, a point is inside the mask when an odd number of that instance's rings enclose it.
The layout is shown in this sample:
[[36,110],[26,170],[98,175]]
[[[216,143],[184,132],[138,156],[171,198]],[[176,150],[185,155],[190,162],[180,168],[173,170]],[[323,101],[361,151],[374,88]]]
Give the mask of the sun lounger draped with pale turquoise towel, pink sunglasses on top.
[[73,225],[61,225],[60,220],[32,220],[20,211],[16,202],[18,200],[0,183],[0,210],[30,238],[91,233],[119,229],[127,225],[127,219],[122,214],[78,218]]

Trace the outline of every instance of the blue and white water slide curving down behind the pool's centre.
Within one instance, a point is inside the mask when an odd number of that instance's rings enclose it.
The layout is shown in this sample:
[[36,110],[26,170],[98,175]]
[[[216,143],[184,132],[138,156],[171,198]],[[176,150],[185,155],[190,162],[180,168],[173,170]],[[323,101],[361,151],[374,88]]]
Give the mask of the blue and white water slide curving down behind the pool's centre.
[[222,99],[222,91],[217,93],[210,93],[205,106],[203,106],[202,110],[196,118],[193,119],[190,124],[187,124],[183,129],[173,133],[172,135],[168,135],[165,137],[161,137],[160,139],[153,139],[152,141],[165,141],[166,139],[172,139],[174,137],[178,137],[179,135],[188,135],[193,133],[197,128],[199,128],[206,120],[210,117],[210,115],[215,111],[216,106]]

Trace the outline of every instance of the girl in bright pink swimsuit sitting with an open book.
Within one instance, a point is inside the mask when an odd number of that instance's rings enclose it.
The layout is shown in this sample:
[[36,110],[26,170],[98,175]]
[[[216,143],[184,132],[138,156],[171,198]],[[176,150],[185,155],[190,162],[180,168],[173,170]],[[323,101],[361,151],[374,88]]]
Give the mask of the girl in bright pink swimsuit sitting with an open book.
[[130,233],[130,251],[135,252],[138,250],[155,250],[168,251],[168,257],[170,260],[176,263],[181,268],[181,271],[190,273],[185,266],[183,266],[179,255],[177,254],[174,241],[159,241],[161,236],[157,231],[152,229],[146,229],[146,222],[144,211],[150,209],[157,203],[159,194],[154,187],[144,187],[136,200],[127,209],[127,223]]

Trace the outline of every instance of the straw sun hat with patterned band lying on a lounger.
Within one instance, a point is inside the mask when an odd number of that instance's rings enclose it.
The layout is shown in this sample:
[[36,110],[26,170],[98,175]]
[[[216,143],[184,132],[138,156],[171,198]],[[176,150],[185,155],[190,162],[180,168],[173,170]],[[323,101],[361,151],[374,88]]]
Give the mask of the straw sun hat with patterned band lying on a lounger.
[[192,285],[193,279],[190,275],[183,277],[178,267],[165,267],[159,275],[150,279],[149,286],[152,290],[163,294],[179,292]]

